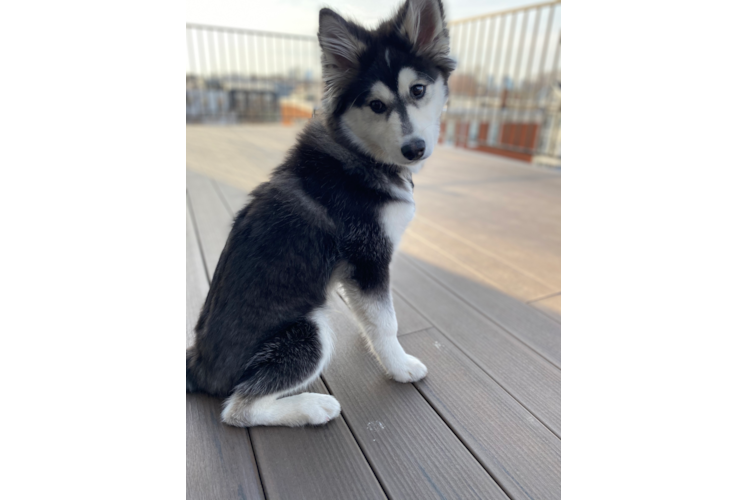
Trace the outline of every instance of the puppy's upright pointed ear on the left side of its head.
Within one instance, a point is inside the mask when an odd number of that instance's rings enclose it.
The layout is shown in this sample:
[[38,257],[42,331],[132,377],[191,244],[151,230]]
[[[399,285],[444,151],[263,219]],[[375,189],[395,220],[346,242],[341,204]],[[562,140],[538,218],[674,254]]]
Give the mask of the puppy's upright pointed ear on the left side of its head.
[[340,78],[358,68],[358,58],[366,46],[357,36],[358,27],[330,9],[319,11],[319,46],[325,80]]

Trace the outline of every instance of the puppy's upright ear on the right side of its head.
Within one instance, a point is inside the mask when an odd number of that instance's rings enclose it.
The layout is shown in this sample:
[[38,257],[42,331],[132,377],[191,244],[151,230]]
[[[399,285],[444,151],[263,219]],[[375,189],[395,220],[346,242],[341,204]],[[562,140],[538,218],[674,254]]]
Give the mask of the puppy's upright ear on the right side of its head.
[[400,11],[400,33],[417,55],[432,59],[449,75],[456,62],[449,57],[449,30],[441,0],[407,0]]

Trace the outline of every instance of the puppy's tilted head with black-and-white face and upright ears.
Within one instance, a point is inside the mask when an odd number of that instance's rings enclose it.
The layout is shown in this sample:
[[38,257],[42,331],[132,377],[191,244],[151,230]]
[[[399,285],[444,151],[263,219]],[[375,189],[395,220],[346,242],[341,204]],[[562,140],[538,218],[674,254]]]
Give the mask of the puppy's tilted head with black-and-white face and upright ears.
[[441,0],[406,0],[374,31],[322,9],[318,37],[328,124],[377,161],[417,170],[455,68]]

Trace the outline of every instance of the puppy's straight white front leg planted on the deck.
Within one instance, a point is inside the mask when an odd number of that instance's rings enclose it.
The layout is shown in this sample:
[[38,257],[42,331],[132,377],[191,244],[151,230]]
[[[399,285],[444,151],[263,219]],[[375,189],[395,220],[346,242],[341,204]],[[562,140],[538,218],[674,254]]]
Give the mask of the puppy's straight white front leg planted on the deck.
[[363,291],[357,283],[348,282],[343,289],[387,375],[398,382],[415,382],[425,377],[426,365],[407,354],[397,339],[397,318],[389,286],[376,292]]

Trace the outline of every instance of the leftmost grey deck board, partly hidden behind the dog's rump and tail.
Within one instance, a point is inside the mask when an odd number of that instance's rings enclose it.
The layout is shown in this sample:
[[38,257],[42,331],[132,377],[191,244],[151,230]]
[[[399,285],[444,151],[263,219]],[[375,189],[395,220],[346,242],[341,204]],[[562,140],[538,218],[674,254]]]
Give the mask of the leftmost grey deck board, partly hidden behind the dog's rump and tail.
[[[194,223],[187,207],[187,347],[208,292]],[[220,402],[186,394],[187,498],[262,500],[262,485],[246,430],[223,425]]]

